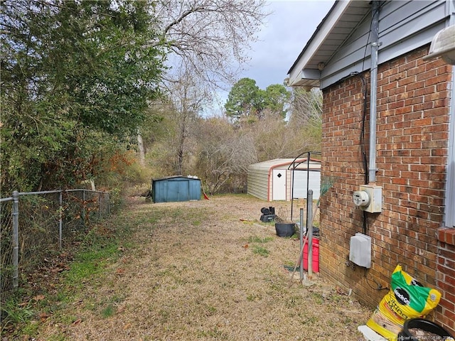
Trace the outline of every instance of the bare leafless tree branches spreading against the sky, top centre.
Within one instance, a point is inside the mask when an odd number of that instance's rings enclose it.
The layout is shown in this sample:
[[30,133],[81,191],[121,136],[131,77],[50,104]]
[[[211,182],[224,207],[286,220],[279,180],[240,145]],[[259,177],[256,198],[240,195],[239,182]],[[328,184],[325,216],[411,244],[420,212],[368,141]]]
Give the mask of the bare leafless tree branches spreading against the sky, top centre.
[[[159,40],[171,53],[169,63],[193,70],[198,81],[233,84],[247,62],[246,52],[268,15],[264,0],[159,0],[154,6]],[[168,80],[178,72],[170,69]]]

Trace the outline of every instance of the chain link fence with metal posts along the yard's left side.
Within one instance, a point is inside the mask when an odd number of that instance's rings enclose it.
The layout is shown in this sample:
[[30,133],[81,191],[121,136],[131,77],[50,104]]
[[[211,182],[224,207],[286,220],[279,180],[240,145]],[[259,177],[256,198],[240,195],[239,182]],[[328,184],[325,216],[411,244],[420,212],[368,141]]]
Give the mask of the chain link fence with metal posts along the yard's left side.
[[45,259],[73,246],[90,221],[109,213],[109,193],[94,190],[14,192],[1,198],[1,301]]

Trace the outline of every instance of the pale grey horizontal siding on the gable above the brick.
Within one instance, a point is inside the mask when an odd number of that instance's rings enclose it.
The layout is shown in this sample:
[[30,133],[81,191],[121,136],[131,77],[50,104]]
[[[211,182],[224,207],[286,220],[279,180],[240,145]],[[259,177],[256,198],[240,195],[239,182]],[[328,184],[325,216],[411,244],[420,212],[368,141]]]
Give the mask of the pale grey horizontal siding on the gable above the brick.
[[[446,27],[449,15],[446,1],[385,1],[379,11],[378,63],[429,44]],[[365,16],[352,36],[326,61],[321,72],[321,89],[352,72],[370,69],[370,22],[371,14]]]

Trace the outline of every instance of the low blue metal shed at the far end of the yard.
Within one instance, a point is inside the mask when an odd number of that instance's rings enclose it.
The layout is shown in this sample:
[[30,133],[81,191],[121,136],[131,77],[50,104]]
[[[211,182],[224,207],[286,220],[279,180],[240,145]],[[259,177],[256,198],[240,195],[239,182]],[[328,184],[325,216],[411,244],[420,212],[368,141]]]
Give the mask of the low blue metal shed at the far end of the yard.
[[200,200],[200,179],[195,176],[168,176],[151,180],[153,202]]

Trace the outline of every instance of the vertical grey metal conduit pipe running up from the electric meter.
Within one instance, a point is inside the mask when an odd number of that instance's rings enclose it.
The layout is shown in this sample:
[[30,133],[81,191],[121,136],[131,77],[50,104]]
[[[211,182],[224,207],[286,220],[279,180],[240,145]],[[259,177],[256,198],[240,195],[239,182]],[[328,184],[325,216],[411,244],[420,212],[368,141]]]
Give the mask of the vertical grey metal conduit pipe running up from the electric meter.
[[379,49],[379,1],[373,1],[371,20],[371,68],[370,68],[370,165],[369,183],[376,182],[376,115],[378,92],[378,49]]

